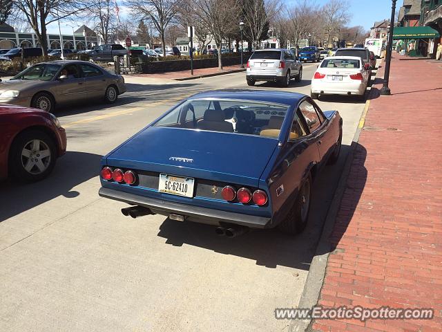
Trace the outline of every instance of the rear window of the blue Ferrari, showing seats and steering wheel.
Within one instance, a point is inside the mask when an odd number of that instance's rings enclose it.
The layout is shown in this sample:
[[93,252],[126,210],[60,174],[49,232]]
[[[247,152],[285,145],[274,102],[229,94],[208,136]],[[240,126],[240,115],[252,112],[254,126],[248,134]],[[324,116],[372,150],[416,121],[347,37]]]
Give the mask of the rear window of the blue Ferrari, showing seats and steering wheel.
[[186,100],[154,127],[199,129],[278,138],[288,105],[249,100]]

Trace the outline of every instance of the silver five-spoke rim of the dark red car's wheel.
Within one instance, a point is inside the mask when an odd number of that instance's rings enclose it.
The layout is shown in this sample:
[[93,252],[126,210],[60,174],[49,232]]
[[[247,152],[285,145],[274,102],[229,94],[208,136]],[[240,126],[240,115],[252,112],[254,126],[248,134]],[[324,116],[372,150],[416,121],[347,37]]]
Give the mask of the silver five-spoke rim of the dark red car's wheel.
[[41,174],[50,165],[51,152],[43,140],[30,140],[21,150],[21,165],[30,174]]

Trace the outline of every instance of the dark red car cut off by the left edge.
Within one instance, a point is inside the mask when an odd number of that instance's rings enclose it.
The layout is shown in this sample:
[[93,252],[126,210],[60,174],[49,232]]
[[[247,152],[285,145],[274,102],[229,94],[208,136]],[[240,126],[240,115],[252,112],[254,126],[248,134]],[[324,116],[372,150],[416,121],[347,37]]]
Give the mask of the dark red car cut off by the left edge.
[[51,113],[0,104],[0,180],[39,181],[65,152],[66,131]]

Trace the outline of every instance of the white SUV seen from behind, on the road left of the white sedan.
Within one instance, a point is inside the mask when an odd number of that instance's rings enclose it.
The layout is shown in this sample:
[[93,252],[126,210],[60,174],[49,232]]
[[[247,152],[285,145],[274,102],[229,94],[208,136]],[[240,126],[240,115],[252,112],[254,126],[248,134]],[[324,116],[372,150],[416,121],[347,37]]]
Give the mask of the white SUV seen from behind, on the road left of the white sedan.
[[248,85],[257,81],[277,82],[287,87],[290,79],[302,80],[302,64],[291,50],[267,48],[256,50],[247,62],[246,79]]

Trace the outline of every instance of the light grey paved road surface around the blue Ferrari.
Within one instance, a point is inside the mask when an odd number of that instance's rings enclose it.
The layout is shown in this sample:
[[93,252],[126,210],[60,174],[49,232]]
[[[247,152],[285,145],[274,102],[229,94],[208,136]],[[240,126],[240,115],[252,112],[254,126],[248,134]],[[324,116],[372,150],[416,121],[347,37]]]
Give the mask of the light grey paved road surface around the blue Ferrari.
[[[309,93],[316,64],[285,91]],[[68,152],[40,183],[0,185],[0,331],[284,331],[275,308],[296,307],[343,162],[365,106],[327,98],[343,117],[337,165],[314,186],[309,226],[227,239],[164,216],[131,219],[98,196],[99,159],[188,95],[249,89],[244,73],[175,82],[126,78],[112,106],[57,116]],[[257,84],[253,89],[280,89]]]

